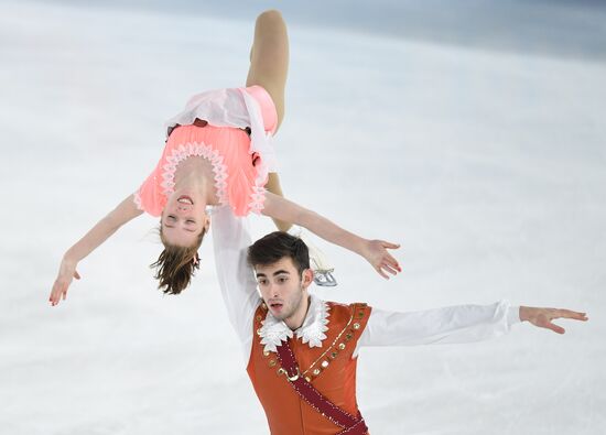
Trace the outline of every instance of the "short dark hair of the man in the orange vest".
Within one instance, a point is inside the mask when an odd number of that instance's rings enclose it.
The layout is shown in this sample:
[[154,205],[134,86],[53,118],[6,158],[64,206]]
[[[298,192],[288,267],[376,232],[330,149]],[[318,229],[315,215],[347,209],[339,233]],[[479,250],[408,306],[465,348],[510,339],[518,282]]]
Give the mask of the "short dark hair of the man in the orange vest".
[[270,265],[289,257],[299,273],[310,269],[310,250],[303,240],[283,231],[274,231],[257,240],[248,248],[248,263]]

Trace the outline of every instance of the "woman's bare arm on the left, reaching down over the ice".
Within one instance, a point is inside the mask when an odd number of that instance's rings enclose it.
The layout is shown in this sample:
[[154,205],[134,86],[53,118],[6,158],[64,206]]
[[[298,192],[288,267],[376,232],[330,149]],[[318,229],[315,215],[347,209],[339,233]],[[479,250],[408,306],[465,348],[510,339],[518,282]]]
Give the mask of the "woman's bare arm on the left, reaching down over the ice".
[[51,305],[57,305],[62,298],[65,300],[72,280],[74,278],[76,280],[80,279],[80,275],[76,271],[78,262],[106,241],[122,225],[140,216],[142,213],[137,208],[133,196],[130,195],[65,252],[61,261],[57,278],[53,284],[53,290],[51,291],[51,296],[48,297]]

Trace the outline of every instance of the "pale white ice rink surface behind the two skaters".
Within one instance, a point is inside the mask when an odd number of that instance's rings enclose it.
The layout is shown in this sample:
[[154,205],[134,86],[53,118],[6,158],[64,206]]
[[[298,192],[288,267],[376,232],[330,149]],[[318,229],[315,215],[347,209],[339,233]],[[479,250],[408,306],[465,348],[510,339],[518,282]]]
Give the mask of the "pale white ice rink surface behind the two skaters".
[[[604,35],[605,22],[578,8],[571,17]],[[155,165],[163,121],[194,93],[244,85],[255,14],[0,10],[0,433],[267,434],[210,238],[191,289],[163,297],[148,268],[158,221],[139,218],[80,263],[67,301],[47,303],[63,252]],[[491,341],[364,349],[358,402],[371,433],[606,433],[603,53],[469,46],[284,14],[291,66],[277,148],[286,195],[402,243],[404,272],[386,282],[318,242],[339,286],[317,294],[400,311],[505,298],[589,316],[561,322],[563,336],[522,324]],[[252,226],[256,237],[272,230],[267,219]]]

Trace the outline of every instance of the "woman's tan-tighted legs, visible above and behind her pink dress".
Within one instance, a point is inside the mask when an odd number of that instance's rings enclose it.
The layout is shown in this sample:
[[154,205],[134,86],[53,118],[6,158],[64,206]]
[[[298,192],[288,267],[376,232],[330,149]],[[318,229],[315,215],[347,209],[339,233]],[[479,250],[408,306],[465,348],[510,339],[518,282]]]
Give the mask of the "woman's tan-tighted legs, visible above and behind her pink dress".
[[[250,50],[250,68],[246,79],[246,86],[259,85],[263,87],[278,111],[278,124],[280,128],[284,118],[284,87],[289,73],[289,35],[286,24],[279,11],[270,10],[261,13],[255,24],[255,42]],[[267,189],[280,196],[284,196],[277,173],[270,173],[266,185]],[[273,220],[278,229],[286,231],[292,224]]]

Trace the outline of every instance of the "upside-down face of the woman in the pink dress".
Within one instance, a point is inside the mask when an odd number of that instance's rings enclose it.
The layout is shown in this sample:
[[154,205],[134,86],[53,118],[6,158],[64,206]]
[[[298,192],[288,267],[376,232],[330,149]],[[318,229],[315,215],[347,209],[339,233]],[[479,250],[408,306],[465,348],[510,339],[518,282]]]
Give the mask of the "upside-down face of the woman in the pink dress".
[[178,247],[194,244],[203,228],[208,229],[210,219],[206,215],[206,204],[193,195],[171,195],[162,211],[162,236]]

